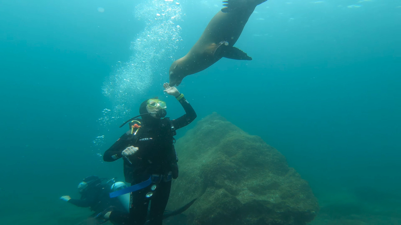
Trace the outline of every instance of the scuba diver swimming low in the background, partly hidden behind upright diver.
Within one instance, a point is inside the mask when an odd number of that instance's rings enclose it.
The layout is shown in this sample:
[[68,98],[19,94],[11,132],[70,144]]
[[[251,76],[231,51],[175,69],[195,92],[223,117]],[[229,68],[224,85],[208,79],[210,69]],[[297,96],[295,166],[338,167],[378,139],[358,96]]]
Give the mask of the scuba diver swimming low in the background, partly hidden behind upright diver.
[[[102,183],[102,180],[105,179],[100,179],[99,177],[93,175],[84,178],[78,185],[78,191],[81,194],[80,199],[72,199],[68,195],[60,197],[60,199],[73,205],[78,207],[90,207],[91,211],[94,211],[88,220],[79,224],[87,224],[85,223],[87,221],[91,221],[89,224],[93,225],[105,223],[108,219],[104,218],[103,215],[109,211],[119,211],[125,213],[130,212],[130,194],[124,194],[115,198],[110,198],[110,193],[124,190],[128,186],[124,182],[116,182],[114,178],[107,181],[107,183]],[[196,199],[175,211],[165,211],[163,214],[163,219],[184,212],[195,201]],[[111,222],[114,224],[119,224],[112,220]]]

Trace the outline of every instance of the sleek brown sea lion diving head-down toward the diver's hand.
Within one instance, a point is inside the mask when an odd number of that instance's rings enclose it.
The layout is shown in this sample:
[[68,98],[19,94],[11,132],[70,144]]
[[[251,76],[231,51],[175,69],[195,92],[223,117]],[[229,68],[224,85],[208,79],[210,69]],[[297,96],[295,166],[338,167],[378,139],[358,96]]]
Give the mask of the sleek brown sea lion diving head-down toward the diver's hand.
[[182,58],[170,66],[170,86],[179,85],[190,74],[202,71],[221,58],[252,60],[245,52],[233,47],[255,7],[267,0],[226,0],[209,22],[199,40]]

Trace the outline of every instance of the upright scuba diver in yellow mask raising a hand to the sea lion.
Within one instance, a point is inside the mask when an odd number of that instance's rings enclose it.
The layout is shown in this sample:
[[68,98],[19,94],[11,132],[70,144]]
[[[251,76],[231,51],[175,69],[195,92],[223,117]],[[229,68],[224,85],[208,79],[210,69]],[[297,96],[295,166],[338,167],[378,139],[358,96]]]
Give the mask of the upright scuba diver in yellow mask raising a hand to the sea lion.
[[[183,94],[168,83],[164,92],[175,96],[185,115],[175,120],[166,117],[166,102],[150,98],[139,108],[142,119],[129,123],[124,133],[103,155],[107,162],[124,160],[124,176],[132,186],[110,193],[110,197],[130,193],[130,212],[109,211],[103,217],[117,223],[162,225],[164,210],[170,195],[171,179],[178,177],[178,157],[174,149],[174,135],[196,118],[196,113]],[[124,126],[126,123],[121,125]],[[193,201],[192,201],[193,203]],[[191,204],[192,204],[191,203]],[[148,215],[148,207],[150,207]]]

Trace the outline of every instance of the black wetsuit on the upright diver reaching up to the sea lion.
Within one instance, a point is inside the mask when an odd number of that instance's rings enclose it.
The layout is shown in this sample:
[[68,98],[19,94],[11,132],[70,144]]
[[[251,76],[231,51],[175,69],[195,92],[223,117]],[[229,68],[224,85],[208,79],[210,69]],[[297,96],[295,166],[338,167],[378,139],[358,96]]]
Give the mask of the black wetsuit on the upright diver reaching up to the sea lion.
[[[178,158],[174,149],[175,130],[191,123],[196,113],[185,98],[179,100],[186,114],[170,120],[169,118],[155,119],[149,115],[142,116],[140,129],[136,135],[128,131],[122,135],[103,155],[104,161],[110,162],[122,158],[122,151],[127,147],[138,147],[138,151],[124,159],[124,175],[126,182],[135,185],[146,181],[152,174],[167,175],[172,172],[172,178],[178,177]],[[142,102],[140,113],[146,113],[146,101]],[[132,125],[132,124],[131,124]],[[171,173],[170,173],[171,174]],[[130,214],[113,211],[110,221],[116,223],[143,225],[147,219],[149,201],[151,201],[149,220],[152,225],[161,225],[163,212],[170,195],[171,180],[156,183],[131,193]],[[152,197],[146,194],[152,192]],[[127,223],[128,222],[128,223]]]

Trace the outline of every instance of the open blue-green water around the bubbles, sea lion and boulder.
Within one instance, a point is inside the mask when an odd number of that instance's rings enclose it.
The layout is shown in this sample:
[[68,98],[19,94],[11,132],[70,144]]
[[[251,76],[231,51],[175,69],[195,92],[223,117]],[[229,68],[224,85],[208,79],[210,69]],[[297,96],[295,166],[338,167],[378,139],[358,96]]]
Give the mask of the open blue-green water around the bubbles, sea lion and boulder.
[[[132,13],[138,3],[0,2],[0,211],[18,215],[15,224],[43,211],[52,218],[65,213],[70,208],[58,198],[78,197],[83,177],[122,179],[122,162],[103,163],[99,154],[125,132],[118,126],[129,117],[107,126],[99,118],[115,105],[102,93],[104,82],[132,55],[130,42],[145,27]],[[378,195],[379,204],[380,195],[399,202],[400,6],[395,0],[269,0],[235,44],[252,61],[223,58],[184,78],[178,89],[198,120],[218,112],[278,149],[318,198],[346,192],[366,193],[366,201]],[[188,52],[221,3],[181,7],[182,48],[175,59]],[[160,96],[176,118],[183,110],[161,85],[169,60],[133,102]],[[127,108],[138,114],[138,105]],[[102,135],[104,143],[94,145]],[[26,210],[36,214],[21,215]]]

